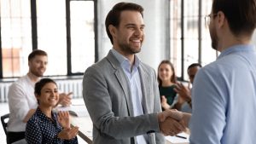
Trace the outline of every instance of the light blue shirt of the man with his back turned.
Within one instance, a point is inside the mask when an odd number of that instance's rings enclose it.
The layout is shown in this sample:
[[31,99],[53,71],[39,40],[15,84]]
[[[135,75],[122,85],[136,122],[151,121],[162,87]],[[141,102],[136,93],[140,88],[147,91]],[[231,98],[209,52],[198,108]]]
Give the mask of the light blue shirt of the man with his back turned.
[[256,52],[225,49],[201,68],[192,90],[191,144],[256,143]]

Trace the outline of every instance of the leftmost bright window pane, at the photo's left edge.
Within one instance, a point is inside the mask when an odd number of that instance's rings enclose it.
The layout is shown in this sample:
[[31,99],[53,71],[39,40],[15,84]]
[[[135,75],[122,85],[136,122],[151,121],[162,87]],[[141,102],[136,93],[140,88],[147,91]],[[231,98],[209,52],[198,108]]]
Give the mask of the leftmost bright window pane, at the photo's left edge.
[[32,49],[30,0],[0,0],[2,77],[18,77],[27,72]]

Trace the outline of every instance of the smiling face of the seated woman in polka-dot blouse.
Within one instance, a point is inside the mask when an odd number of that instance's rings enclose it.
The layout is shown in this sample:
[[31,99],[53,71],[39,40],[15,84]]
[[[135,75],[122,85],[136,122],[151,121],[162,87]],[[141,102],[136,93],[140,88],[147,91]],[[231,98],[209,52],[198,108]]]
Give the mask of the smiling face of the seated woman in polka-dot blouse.
[[47,83],[41,89],[41,94],[36,95],[39,106],[41,107],[55,107],[59,101],[59,93],[56,84]]

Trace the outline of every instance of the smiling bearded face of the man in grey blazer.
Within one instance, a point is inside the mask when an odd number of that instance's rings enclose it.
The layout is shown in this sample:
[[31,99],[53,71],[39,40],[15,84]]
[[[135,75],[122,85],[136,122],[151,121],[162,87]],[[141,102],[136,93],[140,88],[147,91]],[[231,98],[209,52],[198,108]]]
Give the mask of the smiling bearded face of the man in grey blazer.
[[139,12],[131,10],[121,12],[119,26],[110,26],[113,48],[122,55],[134,55],[140,52],[144,27],[143,16]]

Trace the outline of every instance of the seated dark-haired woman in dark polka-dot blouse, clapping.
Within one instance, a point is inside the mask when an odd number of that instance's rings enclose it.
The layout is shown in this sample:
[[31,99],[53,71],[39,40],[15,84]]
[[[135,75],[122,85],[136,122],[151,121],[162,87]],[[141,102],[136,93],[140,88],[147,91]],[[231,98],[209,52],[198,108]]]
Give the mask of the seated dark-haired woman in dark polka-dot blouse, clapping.
[[38,108],[26,124],[26,141],[28,144],[77,144],[78,127],[70,127],[68,112],[53,112],[59,100],[55,81],[41,79],[35,84]]

